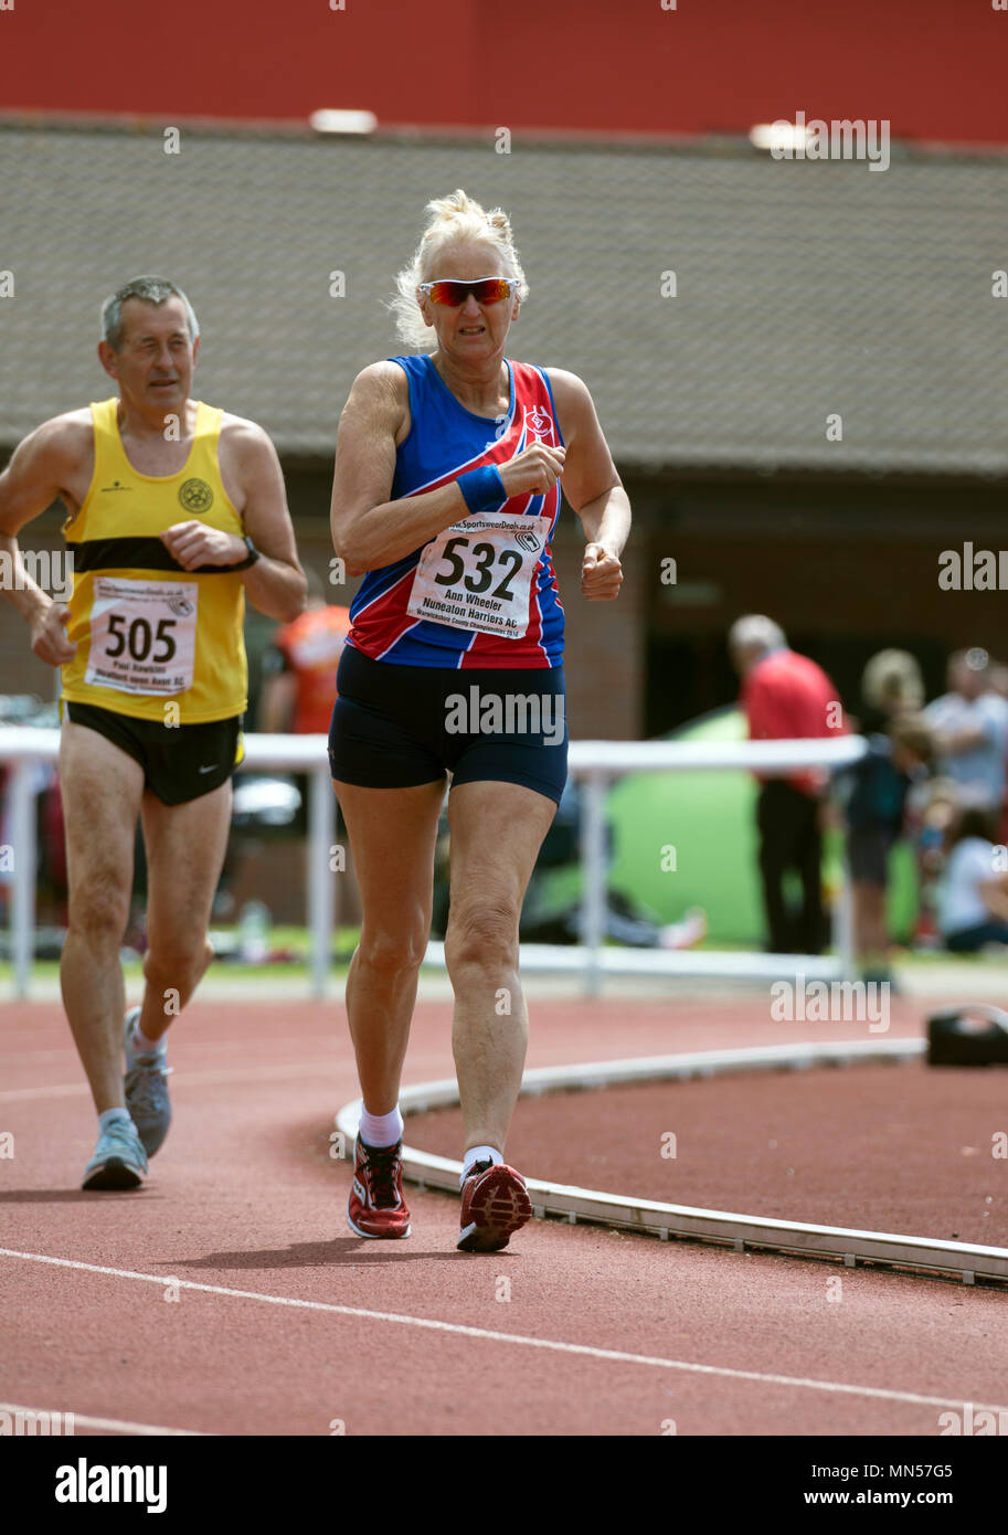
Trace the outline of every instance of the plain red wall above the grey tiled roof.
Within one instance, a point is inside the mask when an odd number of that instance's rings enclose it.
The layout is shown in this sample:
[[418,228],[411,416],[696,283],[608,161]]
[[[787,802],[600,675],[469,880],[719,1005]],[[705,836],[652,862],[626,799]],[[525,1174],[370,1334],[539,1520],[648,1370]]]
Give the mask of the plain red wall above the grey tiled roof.
[[[6,0],[0,109],[1008,144],[991,0]],[[664,0],[664,5],[670,0]],[[1000,0],[999,0],[1000,3]]]

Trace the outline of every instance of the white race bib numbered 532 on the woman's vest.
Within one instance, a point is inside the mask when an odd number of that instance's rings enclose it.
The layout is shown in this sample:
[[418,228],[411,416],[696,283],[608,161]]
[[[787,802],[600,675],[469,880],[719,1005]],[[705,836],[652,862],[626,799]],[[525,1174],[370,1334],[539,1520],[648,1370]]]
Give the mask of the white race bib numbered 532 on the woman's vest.
[[549,517],[505,517],[499,511],[453,522],[420,554],[407,612],[453,629],[520,640],[549,523]]

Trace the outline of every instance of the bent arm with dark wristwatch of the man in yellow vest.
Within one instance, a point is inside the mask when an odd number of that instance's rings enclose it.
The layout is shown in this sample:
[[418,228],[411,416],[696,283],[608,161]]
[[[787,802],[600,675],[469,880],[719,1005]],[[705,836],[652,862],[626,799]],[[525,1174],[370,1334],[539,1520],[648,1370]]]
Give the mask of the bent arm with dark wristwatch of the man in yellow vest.
[[[224,433],[221,433],[221,448]],[[224,453],[221,453],[224,459]],[[238,487],[235,500],[245,534],[252,539],[258,559],[239,571],[245,596],[253,608],[268,619],[288,623],[304,612],[307,599],[305,574],[298,562],[295,530],[287,510],[284,474],[276,448],[261,427],[241,422],[232,428],[227,442],[227,468],[221,476]],[[245,540],[236,533],[207,528],[203,522],[178,522],[161,534],[161,542],[183,569],[201,565],[227,568],[249,557]]]

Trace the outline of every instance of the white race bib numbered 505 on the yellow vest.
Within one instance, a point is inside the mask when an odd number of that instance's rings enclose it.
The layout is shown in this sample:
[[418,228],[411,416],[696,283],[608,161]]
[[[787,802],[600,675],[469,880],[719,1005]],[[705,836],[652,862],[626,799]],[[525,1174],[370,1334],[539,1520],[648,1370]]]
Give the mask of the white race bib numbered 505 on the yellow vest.
[[192,688],[196,660],[196,582],[95,576],[84,682],[117,692]]

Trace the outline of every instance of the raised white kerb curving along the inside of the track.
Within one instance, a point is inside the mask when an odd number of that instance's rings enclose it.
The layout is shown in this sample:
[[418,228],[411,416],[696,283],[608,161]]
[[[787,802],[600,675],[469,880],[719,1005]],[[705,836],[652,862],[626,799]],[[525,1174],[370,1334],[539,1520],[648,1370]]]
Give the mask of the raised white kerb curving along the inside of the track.
[[[810,1067],[844,1067],[864,1061],[908,1061],[924,1053],[924,1039],[858,1039],[832,1044],[759,1045],[747,1050],[703,1050],[690,1055],[638,1056],[631,1061],[598,1061],[580,1065],[540,1067],[522,1078],[522,1098],[551,1091],[603,1088],[623,1082],[661,1082],[715,1076],[721,1071],[805,1071]],[[453,1108],[459,1102],[454,1078],[404,1087],[399,1104],[404,1114],[430,1108]],[[342,1131],[344,1156],[353,1156],[353,1139],[361,1119],[361,1099],[345,1104],[336,1114]],[[459,1193],[462,1162],[404,1144],[404,1176],[420,1188]],[[1008,1248],[970,1242],[940,1242],[936,1237],[901,1236],[887,1231],[855,1231],[845,1226],[807,1225],[766,1216],[733,1214],[724,1210],[697,1210],[690,1205],[664,1205],[629,1194],[606,1194],[594,1188],[549,1183],[526,1177],[532,1211],[539,1219],[558,1216],[571,1225],[620,1226],[657,1236],[663,1242],[681,1237],[790,1257],[832,1259],[848,1268],[908,1269],[939,1279],[954,1277],[967,1285],[977,1280],[1008,1285]]]

